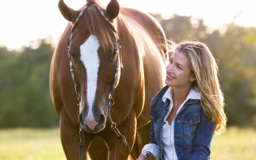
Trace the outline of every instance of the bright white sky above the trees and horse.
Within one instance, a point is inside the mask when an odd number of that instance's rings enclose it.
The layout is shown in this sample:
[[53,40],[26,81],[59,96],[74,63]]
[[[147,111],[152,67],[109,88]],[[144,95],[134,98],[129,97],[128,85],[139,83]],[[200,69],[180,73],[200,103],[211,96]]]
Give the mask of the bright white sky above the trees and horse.
[[[78,10],[86,0],[64,0]],[[107,5],[109,0],[102,0]],[[164,18],[172,15],[202,18],[210,29],[222,29],[235,22],[239,26],[254,26],[256,6],[253,0],[118,0],[122,7],[159,13]],[[68,23],[58,10],[58,0],[8,0],[0,2],[0,46],[19,50],[37,39],[51,37],[58,42]]]

